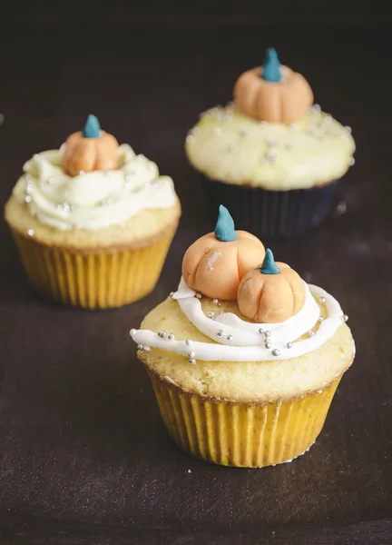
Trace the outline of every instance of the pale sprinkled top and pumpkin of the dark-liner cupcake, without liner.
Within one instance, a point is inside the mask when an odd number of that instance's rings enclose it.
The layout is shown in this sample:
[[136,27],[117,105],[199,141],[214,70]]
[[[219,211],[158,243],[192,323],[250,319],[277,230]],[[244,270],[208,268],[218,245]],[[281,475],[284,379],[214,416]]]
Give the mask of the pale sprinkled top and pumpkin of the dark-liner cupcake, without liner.
[[308,82],[274,50],[263,67],[240,75],[234,100],[201,114],[186,139],[191,164],[211,180],[303,189],[338,179],[354,163],[351,129],[312,105]]

